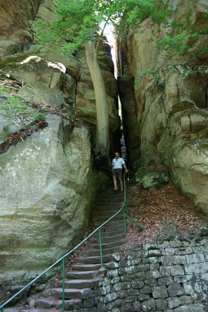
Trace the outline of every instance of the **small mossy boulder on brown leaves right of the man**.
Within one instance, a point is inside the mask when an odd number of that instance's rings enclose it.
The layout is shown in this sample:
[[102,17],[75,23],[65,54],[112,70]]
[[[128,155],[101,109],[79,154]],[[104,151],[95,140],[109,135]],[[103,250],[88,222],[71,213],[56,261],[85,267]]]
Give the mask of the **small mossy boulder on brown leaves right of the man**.
[[136,172],[137,185],[146,190],[158,190],[169,183],[169,172],[166,168],[142,167]]

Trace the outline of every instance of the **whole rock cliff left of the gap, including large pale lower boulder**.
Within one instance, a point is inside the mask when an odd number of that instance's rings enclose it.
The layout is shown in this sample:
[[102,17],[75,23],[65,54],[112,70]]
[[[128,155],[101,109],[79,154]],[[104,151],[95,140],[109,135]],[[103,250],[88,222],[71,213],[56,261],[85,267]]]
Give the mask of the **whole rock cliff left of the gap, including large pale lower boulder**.
[[[108,181],[94,163],[96,106],[84,51],[61,56],[53,45],[38,45],[28,23],[34,18],[53,20],[53,7],[51,0],[0,2],[0,71],[10,73],[9,78],[18,84],[23,80],[18,95],[51,105],[76,120],[70,123],[49,115],[47,128],[0,155],[3,301],[11,297],[13,285],[16,292],[18,285],[30,281],[86,237],[92,202]],[[108,94],[113,153],[114,146],[119,146],[120,118],[117,82],[104,42],[99,58]],[[8,125],[7,132],[12,131]]]

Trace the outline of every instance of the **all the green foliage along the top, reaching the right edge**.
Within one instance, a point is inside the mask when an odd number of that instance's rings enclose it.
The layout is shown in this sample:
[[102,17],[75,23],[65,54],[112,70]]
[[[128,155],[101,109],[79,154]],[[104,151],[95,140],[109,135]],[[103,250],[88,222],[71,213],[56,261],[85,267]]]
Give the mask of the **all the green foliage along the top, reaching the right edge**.
[[[37,35],[42,42],[65,41],[65,53],[71,53],[86,43],[96,40],[106,24],[114,27],[116,34],[125,35],[128,27],[139,27],[139,23],[151,17],[152,26],[162,24],[167,37],[157,41],[159,49],[183,53],[189,48],[190,40],[197,40],[206,34],[205,22],[199,29],[192,23],[190,11],[179,22],[171,21],[171,15],[179,14],[179,5],[173,8],[165,0],[53,0],[56,5],[57,20],[51,25],[36,22]],[[204,14],[205,20],[208,13]],[[154,36],[154,31],[153,31]],[[207,45],[203,48],[205,52]],[[208,48],[207,48],[208,49]]]

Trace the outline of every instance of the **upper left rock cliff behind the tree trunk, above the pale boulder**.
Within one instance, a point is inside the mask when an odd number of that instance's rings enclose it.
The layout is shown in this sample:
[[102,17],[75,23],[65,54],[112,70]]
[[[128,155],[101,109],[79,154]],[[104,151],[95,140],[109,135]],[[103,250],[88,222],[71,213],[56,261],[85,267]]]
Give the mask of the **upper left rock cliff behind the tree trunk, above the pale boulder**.
[[[77,118],[82,119],[91,127],[96,136],[97,115],[95,94],[86,62],[85,51],[80,49],[76,55],[62,56],[57,52],[57,47],[54,46],[54,43],[40,46],[37,43],[33,28],[30,28],[28,24],[28,20],[41,18],[50,23],[56,17],[53,11],[54,4],[52,0],[39,0],[34,1],[34,3],[36,6],[30,2],[27,2],[27,5],[22,3],[22,6],[20,5],[20,8],[15,10],[17,16],[15,17],[13,14],[13,18],[7,18],[9,13],[7,11],[5,12],[5,17],[2,19],[2,28],[11,28],[11,24],[15,24],[15,18],[18,19],[18,16],[20,18],[21,10],[26,5],[24,23],[27,24],[28,31],[31,33],[31,41],[27,45],[18,46],[15,52],[7,48],[5,53],[3,52],[4,50],[0,50],[1,58],[7,55],[0,63],[0,70],[26,77],[24,79],[25,86],[19,91],[21,96],[45,104],[51,104],[57,108],[64,108],[71,115],[75,113]],[[2,4],[2,7],[7,7],[4,1]],[[10,0],[9,5],[9,9],[12,11],[15,1]],[[37,13],[35,9],[32,10],[34,6]],[[27,13],[27,11],[30,13]],[[21,23],[18,24],[18,27],[21,30],[24,29]],[[16,40],[15,28],[11,36]],[[5,43],[4,41],[2,42],[2,49],[6,47],[9,38],[5,39]],[[11,54],[14,55],[11,56]],[[118,116],[118,90],[117,81],[114,78],[114,65],[111,58],[110,46],[105,41],[101,44],[98,57],[107,92],[110,155],[113,156],[114,150],[119,150],[120,145],[120,117]],[[16,76],[12,76],[12,74],[10,78],[13,80],[18,79],[20,82],[22,81],[22,78],[17,78]]]

